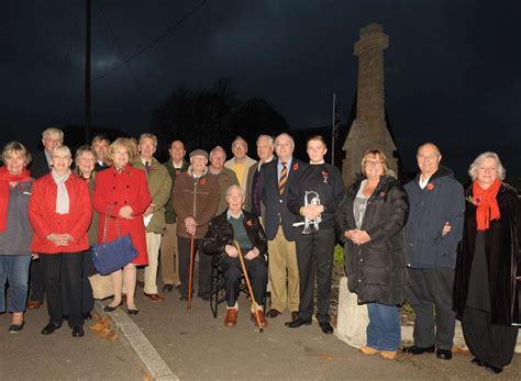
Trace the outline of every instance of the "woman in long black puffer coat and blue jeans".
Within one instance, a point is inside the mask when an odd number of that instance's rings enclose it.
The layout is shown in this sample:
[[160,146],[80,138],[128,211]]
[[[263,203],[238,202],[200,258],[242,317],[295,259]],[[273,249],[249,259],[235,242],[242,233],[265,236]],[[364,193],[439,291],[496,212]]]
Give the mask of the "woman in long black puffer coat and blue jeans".
[[364,154],[362,173],[366,179],[347,190],[335,225],[345,245],[347,285],[369,314],[367,346],[361,351],[393,359],[401,338],[398,306],[406,301],[403,227],[409,201],[399,181],[388,176],[379,149]]

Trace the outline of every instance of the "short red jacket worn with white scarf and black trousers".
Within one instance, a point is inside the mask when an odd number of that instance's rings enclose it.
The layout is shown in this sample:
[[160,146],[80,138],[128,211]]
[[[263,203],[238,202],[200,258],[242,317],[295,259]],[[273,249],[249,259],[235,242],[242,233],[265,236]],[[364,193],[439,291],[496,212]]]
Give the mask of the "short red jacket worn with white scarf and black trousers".
[[[29,220],[34,235],[31,251],[38,254],[78,253],[89,248],[87,231],[92,220],[92,203],[87,182],[70,173],[65,187],[69,194],[69,213],[56,213],[58,187],[49,172],[34,181],[29,203]],[[74,240],[68,246],[56,246],[46,237],[52,233],[68,233]]]

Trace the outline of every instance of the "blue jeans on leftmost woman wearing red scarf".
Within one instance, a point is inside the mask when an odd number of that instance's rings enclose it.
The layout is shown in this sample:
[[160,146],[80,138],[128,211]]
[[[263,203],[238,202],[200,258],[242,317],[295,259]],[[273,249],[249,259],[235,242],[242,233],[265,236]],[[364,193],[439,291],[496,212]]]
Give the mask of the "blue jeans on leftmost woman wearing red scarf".
[[5,281],[11,298],[9,312],[24,312],[29,291],[29,265],[31,255],[0,254],[0,313],[5,312]]

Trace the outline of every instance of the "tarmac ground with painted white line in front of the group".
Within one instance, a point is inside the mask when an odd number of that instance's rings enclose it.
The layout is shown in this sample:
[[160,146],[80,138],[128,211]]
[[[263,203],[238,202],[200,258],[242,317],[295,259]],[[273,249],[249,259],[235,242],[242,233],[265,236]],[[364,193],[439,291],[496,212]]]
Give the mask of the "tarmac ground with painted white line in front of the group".
[[[66,324],[53,335],[41,335],[45,305],[27,311],[20,334],[8,334],[10,316],[0,315],[0,380],[521,379],[520,355],[501,374],[472,365],[469,354],[455,354],[451,361],[399,354],[389,361],[322,334],[317,322],[287,328],[288,312],[268,320],[259,333],[244,295],[234,328],[223,325],[224,304],[213,318],[209,302],[195,298],[187,310],[176,290],[164,294],[164,303],[147,300],[141,289],[137,296],[137,315],[130,318],[124,307],[109,314],[118,329],[115,341],[99,338],[87,328],[91,323],[86,323],[82,338],[71,337]],[[99,303],[100,314],[101,307]]]

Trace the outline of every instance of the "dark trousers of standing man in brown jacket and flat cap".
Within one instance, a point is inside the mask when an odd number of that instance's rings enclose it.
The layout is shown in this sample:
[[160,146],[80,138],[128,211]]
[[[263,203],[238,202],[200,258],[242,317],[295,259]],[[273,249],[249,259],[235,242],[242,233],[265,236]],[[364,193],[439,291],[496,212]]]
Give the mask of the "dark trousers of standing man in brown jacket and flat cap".
[[[190,238],[177,236],[179,250],[179,292],[188,296],[188,281],[190,269]],[[193,239],[193,256],[199,251],[199,296],[210,296],[212,283],[212,256],[202,251],[202,238]],[[193,258],[195,259],[195,258]],[[195,262],[195,260],[193,260]],[[193,287],[193,285],[192,285]]]

